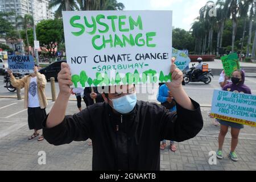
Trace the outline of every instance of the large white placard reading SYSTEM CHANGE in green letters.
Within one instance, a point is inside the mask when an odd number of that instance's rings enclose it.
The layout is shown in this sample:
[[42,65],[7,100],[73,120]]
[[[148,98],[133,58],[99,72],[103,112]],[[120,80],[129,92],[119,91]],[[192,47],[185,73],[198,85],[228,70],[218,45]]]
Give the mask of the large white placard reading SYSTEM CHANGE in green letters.
[[171,81],[172,11],[63,11],[75,87]]

